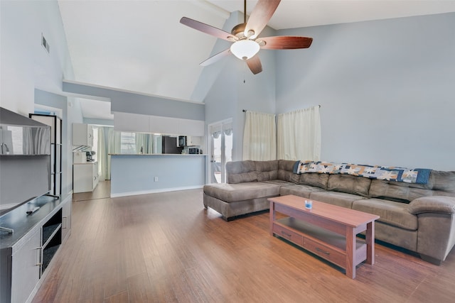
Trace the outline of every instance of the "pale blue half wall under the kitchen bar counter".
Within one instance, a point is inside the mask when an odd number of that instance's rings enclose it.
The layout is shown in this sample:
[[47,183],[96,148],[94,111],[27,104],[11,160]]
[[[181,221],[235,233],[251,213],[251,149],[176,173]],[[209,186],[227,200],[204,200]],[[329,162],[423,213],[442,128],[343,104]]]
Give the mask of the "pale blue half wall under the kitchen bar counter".
[[109,154],[111,197],[202,188],[207,155]]

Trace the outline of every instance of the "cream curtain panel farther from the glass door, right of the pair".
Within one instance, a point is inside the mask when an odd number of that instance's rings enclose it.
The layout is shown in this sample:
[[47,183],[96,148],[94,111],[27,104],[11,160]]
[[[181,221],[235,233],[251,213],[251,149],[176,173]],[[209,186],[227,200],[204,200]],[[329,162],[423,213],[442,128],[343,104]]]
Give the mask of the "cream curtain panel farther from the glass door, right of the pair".
[[321,160],[319,106],[278,115],[277,158]]

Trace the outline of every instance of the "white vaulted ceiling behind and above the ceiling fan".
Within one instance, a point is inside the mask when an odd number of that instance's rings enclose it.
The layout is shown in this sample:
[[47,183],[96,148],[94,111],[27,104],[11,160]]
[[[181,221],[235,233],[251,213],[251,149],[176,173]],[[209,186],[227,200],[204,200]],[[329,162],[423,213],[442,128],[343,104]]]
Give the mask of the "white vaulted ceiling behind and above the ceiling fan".
[[[250,13],[257,1],[247,1]],[[188,101],[216,38],[183,26],[186,16],[223,28],[242,0],[60,0],[75,81]],[[282,0],[279,30],[455,11],[455,1]],[[82,103],[84,115],[97,117]],[[92,115],[92,116],[90,116]]]

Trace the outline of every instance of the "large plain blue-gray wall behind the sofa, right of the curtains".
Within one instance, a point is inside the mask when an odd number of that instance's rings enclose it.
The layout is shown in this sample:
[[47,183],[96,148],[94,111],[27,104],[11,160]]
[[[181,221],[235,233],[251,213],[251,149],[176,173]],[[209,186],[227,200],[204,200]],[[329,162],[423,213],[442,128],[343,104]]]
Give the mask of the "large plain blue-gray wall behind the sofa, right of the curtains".
[[277,113],[321,104],[326,161],[455,170],[455,13],[279,31]]

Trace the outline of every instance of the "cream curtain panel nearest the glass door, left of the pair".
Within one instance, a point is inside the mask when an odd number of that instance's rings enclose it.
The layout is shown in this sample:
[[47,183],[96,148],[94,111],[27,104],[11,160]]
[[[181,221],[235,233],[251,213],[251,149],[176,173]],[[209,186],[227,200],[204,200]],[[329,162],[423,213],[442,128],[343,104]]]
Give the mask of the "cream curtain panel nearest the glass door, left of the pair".
[[276,158],[275,115],[247,111],[243,131],[243,160],[275,160]]

